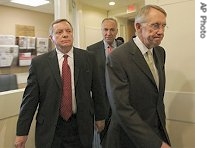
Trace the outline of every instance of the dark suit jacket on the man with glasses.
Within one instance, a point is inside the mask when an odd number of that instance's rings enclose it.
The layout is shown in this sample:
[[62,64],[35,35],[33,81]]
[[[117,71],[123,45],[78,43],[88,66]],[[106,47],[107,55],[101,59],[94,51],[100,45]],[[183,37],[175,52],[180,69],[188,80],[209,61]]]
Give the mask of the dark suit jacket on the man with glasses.
[[162,141],[170,145],[163,102],[165,51],[158,46],[153,53],[159,90],[133,40],[107,58],[107,93],[113,112],[107,148],[160,148]]

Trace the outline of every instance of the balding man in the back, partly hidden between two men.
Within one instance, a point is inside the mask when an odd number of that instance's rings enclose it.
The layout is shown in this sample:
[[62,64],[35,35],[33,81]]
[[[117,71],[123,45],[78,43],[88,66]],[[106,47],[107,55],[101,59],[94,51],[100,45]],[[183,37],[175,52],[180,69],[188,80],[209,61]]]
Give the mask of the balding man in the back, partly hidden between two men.
[[[121,45],[121,41],[117,41],[116,35],[118,33],[117,21],[113,18],[105,18],[101,23],[101,31],[103,35],[103,40],[99,41],[95,44],[92,44],[87,47],[88,51],[91,51],[95,54],[96,60],[98,63],[99,74],[101,84],[106,91],[106,82],[105,82],[105,64],[106,64],[106,56],[110,53],[111,50],[114,50],[117,46]],[[106,92],[105,92],[106,93]],[[100,133],[101,140],[104,138],[111,117],[111,108],[109,105],[109,100],[107,98],[107,94],[105,94],[105,106],[106,106],[106,120],[105,120],[105,129]]]

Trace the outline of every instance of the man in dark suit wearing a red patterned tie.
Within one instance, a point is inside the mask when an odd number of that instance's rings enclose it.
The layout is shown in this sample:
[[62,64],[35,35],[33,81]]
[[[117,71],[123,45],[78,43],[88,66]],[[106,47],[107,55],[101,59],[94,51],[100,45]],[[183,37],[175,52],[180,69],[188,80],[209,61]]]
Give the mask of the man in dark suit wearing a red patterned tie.
[[[105,124],[104,91],[92,53],[73,47],[73,28],[66,19],[51,24],[50,38],[56,49],[32,59],[17,122],[16,148],[24,148],[33,116],[36,116],[37,148],[92,148],[95,126]],[[67,56],[71,82],[61,77]],[[61,115],[63,92],[71,86],[71,116]],[[63,88],[63,89],[62,89]],[[65,103],[64,103],[65,104]],[[63,107],[63,106],[62,106]]]

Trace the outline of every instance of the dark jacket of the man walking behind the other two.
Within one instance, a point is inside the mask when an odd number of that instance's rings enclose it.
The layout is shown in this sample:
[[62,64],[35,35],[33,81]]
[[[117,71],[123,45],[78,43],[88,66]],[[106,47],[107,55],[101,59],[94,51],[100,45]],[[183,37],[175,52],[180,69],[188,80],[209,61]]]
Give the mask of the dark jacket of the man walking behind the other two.
[[[120,41],[117,41],[117,40],[115,40],[115,41],[117,43],[117,46],[122,44],[122,42],[120,42]],[[87,50],[93,52],[96,56],[96,61],[98,63],[101,84],[102,84],[104,90],[106,90],[106,80],[105,80],[106,55],[105,55],[103,40],[99,41],[93,45],[88,46]],[[107,98],[106,92],[105,92],[105,96],[106,96],[106,99],[105,99],[106,117],[108,117],[110,105],[109,105],[109,100]]]

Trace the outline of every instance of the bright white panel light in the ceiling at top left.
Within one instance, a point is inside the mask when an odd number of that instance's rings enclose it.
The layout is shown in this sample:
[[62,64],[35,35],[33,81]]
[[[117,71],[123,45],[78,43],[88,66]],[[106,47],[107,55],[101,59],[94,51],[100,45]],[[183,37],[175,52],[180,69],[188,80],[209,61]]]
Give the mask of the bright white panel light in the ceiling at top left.
[[11,0],[11,2],[32,7],[37,7],[49,3],[47,0]]

